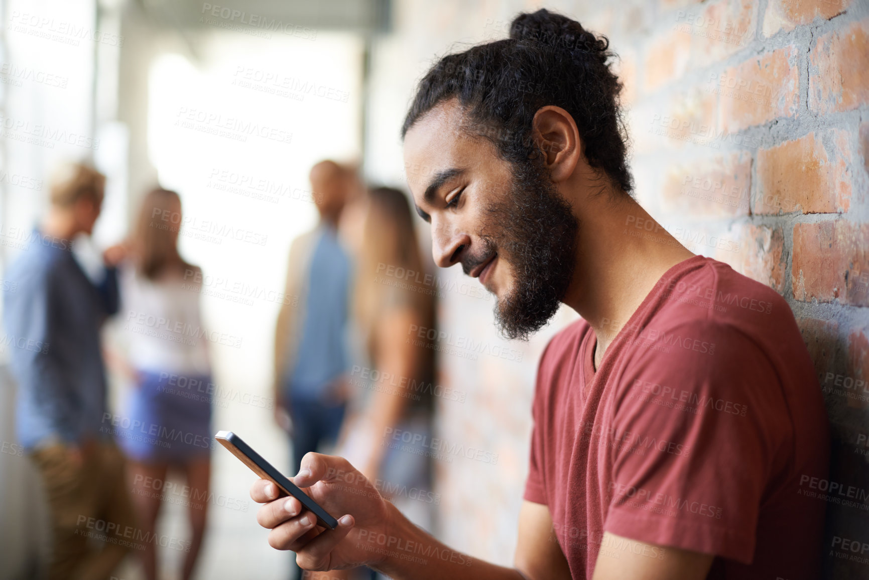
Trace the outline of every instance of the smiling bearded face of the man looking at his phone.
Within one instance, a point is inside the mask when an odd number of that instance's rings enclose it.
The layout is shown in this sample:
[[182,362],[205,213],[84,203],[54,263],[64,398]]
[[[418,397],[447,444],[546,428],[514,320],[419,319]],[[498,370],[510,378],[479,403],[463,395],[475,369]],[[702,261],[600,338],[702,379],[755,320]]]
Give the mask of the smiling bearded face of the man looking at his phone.
[[579,222],[539,165],[514,166],[462,130],[454,102],[408,130],[404,161],[417,211],[432,225],[434,262],[461,263],[480,279],[505,336],[540,329],[573,277]]

